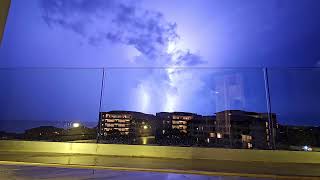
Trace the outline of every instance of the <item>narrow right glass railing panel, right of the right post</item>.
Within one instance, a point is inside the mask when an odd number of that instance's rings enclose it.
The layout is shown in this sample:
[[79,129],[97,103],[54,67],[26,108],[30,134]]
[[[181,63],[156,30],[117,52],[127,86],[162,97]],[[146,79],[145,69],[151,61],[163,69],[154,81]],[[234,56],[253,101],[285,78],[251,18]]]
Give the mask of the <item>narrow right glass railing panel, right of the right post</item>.
[[318,150],[320,69],[269,70],[272,111],[278,115],[277,146]]

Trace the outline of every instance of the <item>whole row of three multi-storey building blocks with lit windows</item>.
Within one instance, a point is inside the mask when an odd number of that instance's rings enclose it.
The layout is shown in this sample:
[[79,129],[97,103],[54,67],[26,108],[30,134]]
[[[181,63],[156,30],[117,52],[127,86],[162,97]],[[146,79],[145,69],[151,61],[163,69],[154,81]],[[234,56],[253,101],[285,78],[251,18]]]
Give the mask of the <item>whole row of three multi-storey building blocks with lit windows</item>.
[[107,143],[139,144],[139,138],[152,136],[160,145],[273,149],[277,132],[275,114],[269,118],[267,113],[240,110],[222,111],[216,116],[110,111],[102,112],[100,118],[100,139]]

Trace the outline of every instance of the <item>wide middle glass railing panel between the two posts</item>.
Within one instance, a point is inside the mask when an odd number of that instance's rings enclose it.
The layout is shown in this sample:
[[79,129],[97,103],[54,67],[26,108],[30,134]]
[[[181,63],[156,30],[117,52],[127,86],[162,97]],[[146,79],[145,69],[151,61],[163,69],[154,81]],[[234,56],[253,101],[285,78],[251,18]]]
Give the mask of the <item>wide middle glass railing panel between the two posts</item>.
[[262,69],[105,71],[101,143],[271,148]]

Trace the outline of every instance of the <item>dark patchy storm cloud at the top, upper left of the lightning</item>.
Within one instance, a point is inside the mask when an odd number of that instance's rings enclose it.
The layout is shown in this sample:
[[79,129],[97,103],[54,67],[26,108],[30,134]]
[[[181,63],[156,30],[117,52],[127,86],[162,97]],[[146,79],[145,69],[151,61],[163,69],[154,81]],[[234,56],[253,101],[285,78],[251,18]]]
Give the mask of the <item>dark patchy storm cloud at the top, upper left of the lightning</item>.
[[135,2],[41,0],[40,6],[49,26],[72,30],[93,45],[109,40],[133,46],[141,54],[154,58],[165,52],[168,42],[178,39],[175,23]]

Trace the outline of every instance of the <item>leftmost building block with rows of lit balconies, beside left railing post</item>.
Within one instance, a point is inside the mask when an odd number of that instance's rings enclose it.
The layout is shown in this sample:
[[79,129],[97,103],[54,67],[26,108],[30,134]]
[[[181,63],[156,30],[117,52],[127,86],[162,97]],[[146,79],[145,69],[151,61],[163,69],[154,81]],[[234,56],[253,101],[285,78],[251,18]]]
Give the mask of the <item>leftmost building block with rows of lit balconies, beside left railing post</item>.
[[109,111],[100,113],[100,138],[102,140],[126,139],[154,134],[154,116],[133,111]]

